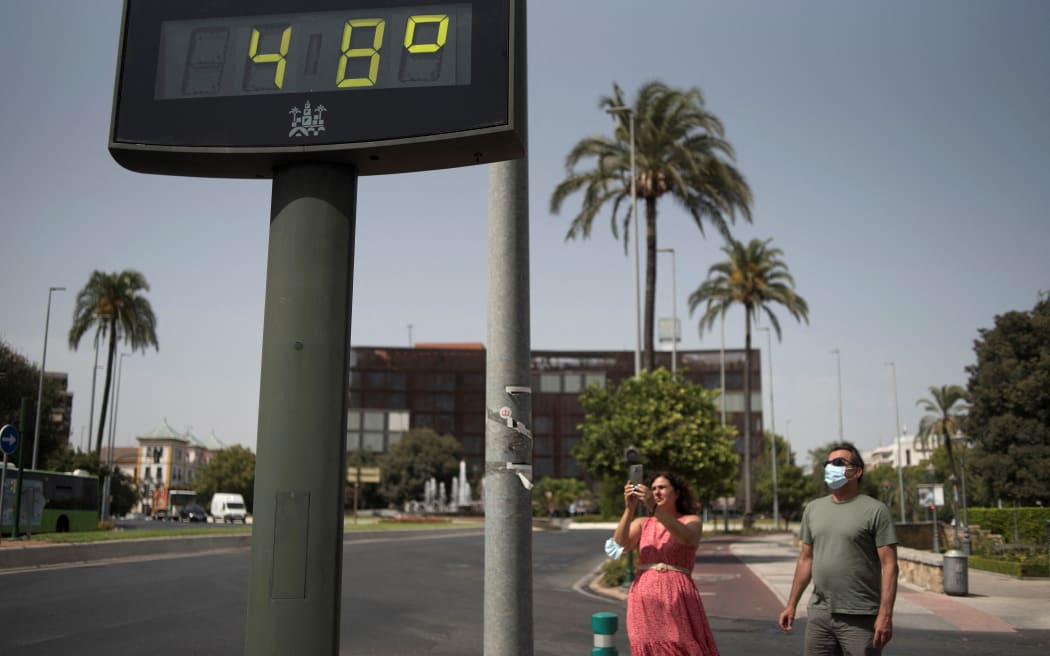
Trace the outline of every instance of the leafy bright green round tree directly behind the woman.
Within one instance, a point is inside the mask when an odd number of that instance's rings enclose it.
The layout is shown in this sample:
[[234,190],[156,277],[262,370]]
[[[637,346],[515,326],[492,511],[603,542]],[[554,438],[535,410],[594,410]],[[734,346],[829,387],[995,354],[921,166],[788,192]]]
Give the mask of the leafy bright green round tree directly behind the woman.
[[669,469],[690,481],[700,500],[729,494],[737,465],[735,431],[721,426],[715,397],[663,367],[618,385],[588,387],[580,397],[583,435],[572,456],[589,475],[622,485],[628,478],[624,454],[634,446],[647,479]]

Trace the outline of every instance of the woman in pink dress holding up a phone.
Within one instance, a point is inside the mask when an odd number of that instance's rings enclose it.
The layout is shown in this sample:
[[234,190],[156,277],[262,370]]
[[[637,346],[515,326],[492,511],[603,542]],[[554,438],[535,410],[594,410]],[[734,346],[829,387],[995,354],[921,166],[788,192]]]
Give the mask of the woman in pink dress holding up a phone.
[[[627,595],[631,656],[718,656],[693,583],[701,525],[689,486],[664,471],[648,486],[628,483],[624,501],[613,539],[638,548],[638,574]],[[634,516],[639,502],[648,517]]]

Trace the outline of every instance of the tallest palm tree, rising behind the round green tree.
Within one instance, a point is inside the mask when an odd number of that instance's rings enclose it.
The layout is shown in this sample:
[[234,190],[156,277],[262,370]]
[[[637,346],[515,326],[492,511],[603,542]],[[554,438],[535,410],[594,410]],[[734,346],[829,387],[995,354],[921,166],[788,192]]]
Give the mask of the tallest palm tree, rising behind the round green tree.
[[[624,91],[613,85],[613,94],[600,106],[607,110],[627,108]],[[704,106],[699,89],[682,91],[662,82],[649,82],[638,89],[630,112],[618,111],[613,137],[588,136],[580,141],[565,158],[568,175],[550,195],[550,211],[556,214],[565,199],[583,191],[580,213],[572,219],[566,240],[590,236],[594,217],[612,202],[610,225],[620,238],[624,228],[627,253],[631,221],[630,122],[634,115],[635,194],[646,211],[646,300],[645,364],[653,364],[653,321],[656,303],[656,202],[669,195],[689,211],[704,234],[705,223],[731,238],[729,224],[739,212],[751,221],[751,188],[733,166],[733,146],[724,137],[721,122]],[[584,160],[593,168],[576,170]],[[626,206],[627,209],[622,211]]]

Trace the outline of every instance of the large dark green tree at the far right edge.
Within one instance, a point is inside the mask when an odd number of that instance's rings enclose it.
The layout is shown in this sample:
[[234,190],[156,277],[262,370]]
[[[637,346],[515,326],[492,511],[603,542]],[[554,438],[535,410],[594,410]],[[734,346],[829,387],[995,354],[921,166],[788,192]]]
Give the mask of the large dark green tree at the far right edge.
[[[976,362],[966,367],[970,408],[963,431],[975,443],[979,499],[1047,503],[1050,471],[1050,296],[1030,312],[1008,312],[979,331]],[[970,489],[973,489],[970,488]],[[970,493],[970,490],[967,490]]]

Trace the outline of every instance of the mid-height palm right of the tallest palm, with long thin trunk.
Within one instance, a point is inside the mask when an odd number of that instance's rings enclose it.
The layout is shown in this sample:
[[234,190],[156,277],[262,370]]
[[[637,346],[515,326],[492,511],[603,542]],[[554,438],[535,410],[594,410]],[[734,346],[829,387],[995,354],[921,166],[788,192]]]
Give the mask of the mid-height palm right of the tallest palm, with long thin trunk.
[[[780,341],[780,321],[771,305],[788,309],[797,321],[810,322],[810,306],[795,293],[795,279],[780,259],[783,251],[770,248],[773,239],[752,239],[747,246],[731,239],[722,247],[729,259],[713,264],[708,279],[689,296],[692,314],[705,304],[700,331],[710,330],[734,303],[743,305],[744,367],[743,367],[743,516],[751,523],[751,321],[764,313]],[[726,390],[722,390],[724,394]]]

